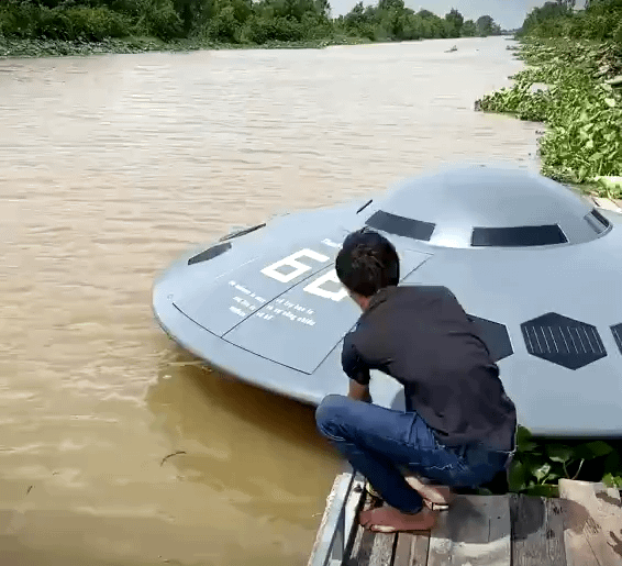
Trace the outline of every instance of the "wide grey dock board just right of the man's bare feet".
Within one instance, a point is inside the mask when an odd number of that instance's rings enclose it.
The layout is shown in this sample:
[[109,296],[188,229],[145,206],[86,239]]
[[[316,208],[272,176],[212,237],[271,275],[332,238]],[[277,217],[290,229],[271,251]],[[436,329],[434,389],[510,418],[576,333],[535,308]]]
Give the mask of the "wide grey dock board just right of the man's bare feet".
[[510,566],[508,496],[457,496],[432,529],[427,566]]

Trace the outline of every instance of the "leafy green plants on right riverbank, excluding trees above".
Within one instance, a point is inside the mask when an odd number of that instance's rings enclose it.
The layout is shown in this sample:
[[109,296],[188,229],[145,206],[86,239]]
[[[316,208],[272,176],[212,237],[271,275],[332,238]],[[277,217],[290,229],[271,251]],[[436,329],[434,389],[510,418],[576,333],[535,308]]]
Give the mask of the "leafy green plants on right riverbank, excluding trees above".
[[622,47],[614,42],[521,40],[527,68],[476,110],[544,122],[542,173],[603,197],[622,196]]

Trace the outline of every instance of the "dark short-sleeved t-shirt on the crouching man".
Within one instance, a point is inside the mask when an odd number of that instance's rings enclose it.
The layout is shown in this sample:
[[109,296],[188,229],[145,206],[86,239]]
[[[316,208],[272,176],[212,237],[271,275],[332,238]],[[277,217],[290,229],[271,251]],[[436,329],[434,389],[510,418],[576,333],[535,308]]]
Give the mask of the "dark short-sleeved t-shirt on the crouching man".
[[407,410],[419,413],[442,444],[514,448],[514,403],[477,329],[446,287],[380,289],[345,336],[342,365],[362,385],[369,384],[370,369],[397,379]]

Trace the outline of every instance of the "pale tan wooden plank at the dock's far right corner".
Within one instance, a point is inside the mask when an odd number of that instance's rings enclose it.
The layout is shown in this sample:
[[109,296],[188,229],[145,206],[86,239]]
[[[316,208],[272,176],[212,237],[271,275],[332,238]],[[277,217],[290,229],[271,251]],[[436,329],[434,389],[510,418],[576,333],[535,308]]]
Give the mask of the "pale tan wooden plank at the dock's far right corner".
[[568,566],[622,566],[622,506],[615,488],[559,480]]

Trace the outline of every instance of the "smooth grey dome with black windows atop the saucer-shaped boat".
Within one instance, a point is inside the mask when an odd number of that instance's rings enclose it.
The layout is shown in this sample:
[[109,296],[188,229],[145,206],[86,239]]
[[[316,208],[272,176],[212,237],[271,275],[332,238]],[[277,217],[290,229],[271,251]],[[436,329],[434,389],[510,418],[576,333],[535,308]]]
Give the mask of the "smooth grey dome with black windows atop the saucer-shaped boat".
[[370,227],[444,247],[567,246],[611,229],[588,200],[529,169],[471,166],[409,179]]

